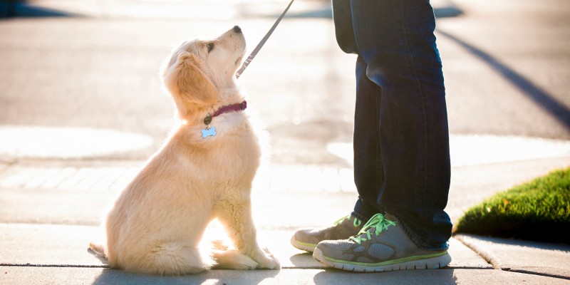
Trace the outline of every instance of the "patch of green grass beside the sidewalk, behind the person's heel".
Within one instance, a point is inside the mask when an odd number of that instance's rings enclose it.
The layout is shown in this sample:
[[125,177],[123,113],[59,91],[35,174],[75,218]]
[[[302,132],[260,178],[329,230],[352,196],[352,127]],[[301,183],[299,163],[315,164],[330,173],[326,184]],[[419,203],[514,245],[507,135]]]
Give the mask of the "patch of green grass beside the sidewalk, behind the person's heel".
[[570,244],[570,168],[498,193],[472,207],[455,233]]

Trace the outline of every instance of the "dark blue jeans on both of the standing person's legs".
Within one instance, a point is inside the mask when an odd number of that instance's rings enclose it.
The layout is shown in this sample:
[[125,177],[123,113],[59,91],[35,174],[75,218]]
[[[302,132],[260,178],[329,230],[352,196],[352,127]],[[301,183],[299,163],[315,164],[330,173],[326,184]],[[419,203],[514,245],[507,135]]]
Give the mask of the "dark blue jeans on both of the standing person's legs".
[[353,214],[398,217],[423,249],[447,249],[449,130],[428,0],[333,0],[338,45],[356,53]]

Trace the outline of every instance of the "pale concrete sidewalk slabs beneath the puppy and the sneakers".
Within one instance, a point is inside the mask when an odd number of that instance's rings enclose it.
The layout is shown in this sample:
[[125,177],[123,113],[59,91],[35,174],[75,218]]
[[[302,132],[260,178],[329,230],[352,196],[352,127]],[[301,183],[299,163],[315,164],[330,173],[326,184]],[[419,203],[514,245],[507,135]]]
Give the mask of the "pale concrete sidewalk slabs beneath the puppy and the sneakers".
[[[261,230],[281,261],[281,271],[214,270],[189,276],[146,276],[105,268],[87,252],[97,227],[41,224],[0,225],[2,284],[570,284],[570,247],[458,236],[450,240],[445,269],[374,274],[325,269],[311,254],[289,245],[293,231]],[[468,241],[467,247],[462,241]],[[484,249],[496,268],[474,251]]]

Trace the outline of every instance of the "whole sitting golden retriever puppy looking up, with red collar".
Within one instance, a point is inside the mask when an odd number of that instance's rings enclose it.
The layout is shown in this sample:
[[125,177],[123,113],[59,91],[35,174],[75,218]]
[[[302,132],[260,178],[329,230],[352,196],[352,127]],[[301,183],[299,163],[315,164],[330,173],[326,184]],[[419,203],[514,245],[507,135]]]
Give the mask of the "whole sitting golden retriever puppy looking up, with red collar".
[[[260,163],[257,136],[234,79],[245,38],[238,26],[176,48],[162,67],[180,123],[116,200],[103,222],[106,242],[90,249],[112,268],[147,274],[279,269],[257,244],[250,192]],[[198,248],[212,219],[235,249]]]

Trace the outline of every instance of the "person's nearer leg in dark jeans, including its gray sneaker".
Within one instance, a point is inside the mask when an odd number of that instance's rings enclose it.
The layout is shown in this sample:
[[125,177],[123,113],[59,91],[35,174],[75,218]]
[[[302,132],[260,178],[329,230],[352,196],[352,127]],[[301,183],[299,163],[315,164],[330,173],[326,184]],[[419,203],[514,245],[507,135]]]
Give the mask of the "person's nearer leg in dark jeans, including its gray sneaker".
[[[376,203],[386,213],[355,237],[318,243],[313,257],[353,271],[446,266],[449,133],[432,8],[426,0],[353,0],[351,12],[366,76],[381,88],[375,123],[383,177],[373,181],[381,182]],[[355,160],[361,147],[355,141]]]

